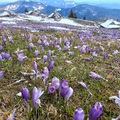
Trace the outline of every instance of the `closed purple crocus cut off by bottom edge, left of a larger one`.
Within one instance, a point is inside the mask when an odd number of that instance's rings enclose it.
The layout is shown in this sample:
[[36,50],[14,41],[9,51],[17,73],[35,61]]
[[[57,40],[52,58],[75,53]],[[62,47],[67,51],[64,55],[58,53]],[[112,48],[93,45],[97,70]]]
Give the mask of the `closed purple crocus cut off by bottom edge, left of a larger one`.
[[74,112],[74,120],[84,120],[85,113],[82,108],[77,108]]

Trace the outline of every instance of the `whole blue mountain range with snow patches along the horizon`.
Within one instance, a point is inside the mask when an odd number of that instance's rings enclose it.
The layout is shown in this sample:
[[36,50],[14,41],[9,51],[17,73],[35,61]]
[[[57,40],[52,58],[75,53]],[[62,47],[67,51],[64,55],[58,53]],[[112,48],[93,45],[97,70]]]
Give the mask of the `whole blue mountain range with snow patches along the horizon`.
[[[56,9],[59,9],[59,13],[62,16],[67,17],[69,15],[70,10],[72,9],[76,13],[77,18],[79,19],[83,19],[83,17],[85,17],[87,20],[95,20],[95,21],[104,21],[109,18],[113,18],[117,20],[120,19],[120,14],[119,14],[120,9],[110,9],[110,8],[98,7],[88,4],[79,5],[75,2],[72,2],[71,0],[61,0],[61,2],[59,0],[52,0],[52,2],[48,0],[39,0],[39,1],[19,0],[17,2],[0,5],[0,11],[12,10],[16,13],[24,13],[25,10],[27,9],[28,11],[37,10],[42,14],[49,15],[52,12],[54,12]],[[52,4],[54,4],[54,6]]]

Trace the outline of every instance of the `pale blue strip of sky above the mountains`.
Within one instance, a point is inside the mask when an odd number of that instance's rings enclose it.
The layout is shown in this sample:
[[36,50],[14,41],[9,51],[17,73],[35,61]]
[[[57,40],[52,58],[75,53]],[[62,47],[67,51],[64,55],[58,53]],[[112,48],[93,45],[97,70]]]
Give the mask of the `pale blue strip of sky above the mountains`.
[[[17,0],[4,0],[4,2],[15,2],[15,1]],[[81,3],[81,2],[82,3],[120,3],[119,0],[72,0],[72,1],[75,1],[77,3]]]

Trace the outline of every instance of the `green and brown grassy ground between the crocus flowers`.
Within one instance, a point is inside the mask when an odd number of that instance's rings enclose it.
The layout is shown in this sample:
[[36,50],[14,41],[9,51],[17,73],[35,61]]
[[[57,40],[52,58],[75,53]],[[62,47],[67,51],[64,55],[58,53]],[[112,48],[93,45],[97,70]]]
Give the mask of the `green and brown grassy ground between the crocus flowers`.
[[[1,33],[5,33],[8,31],[11,36],[13,36],[14,44],[7,42],[3,47],[3,51],[10,52],[11,58],[10,60],[4,60],[0,62],[0,70],[4,72],[3,77],[0,78],[0,116],[1,119],[7,117],[14,108],[17,109],[15,119],[16,120],[27,120],[28,115],[26,112],[25,105],[21,97],[16,96],[18,92],[21,91],[23,86],[26,86],[30,92],[34,86],[40,87],[45,90],[45,93],[41,97],[41,108],[39,109],[39,115],[41,120],[72,120],[73,112],[76,108],[81,107],[85,111],[85,117],[88,117],[89,108],[97,101],[101,102],[103,105],[103,114],[99,118],[100,120],[110,120],[111,118],[115,118],[119,115],[120,109],[118,105],[114,103],[113,100],[109,100],[109,97],[112,95],[118,95],[118,90],[120,88],[120,72],[119,69],[113,69],[111,66],[119,66],[118,62],[113,62],[113,56],[107,57],[103,60],[101,54],[99,52],[98,57],[92,59],[91,54],[80,52],[74,49],[74,45],[78,42],[81,45],[79,38],[76,36],[76,33],[71,32],[56,32],[56,31],[42,31],[39,33],[33,34],[33,43],[37,46],[37,49],[40,51],[39,57],[42,58],[44,54],[47,54],[47,51],[54,50],[54,55],[56,58],[54,59],[55,64],[50,72],[50,76],[48,79],[48,83],[51,82],[53,77],[58,77],[60,80],[65,78],[69,85],[74,89],[74,94],[69,100],[69,104],[66,105],[63,99],[59,96],[59,90],[55,92],[55,94],[50,95],[47,89],[44,88],[44,84],[42,79],[32,80],[30,77],[24,77],[20,71],[30,72],[32,68],[32,62],[36,60],[34,55],[34,50],[27,50],[28,46],[28,38],[24,39],[22,36],[23,33],[29,34],[30,32],[23,30],[11,30],[11,29],[3,29],[0,31]],[[13,32],[12,32],[13,31]],[[48,46],[42,49],[38,47],[37,40],[38,35],[41,35],[40,39],[43,39],[43,35],[52,35],[56,37],[56,39],[63,38],[66,36],[67,38],[72,39],[72,47],[71,51],[74,51],[74,56],[69,56],[68,52],[65,50],[58,51],[54,49],[53,46]],[[6,36],[7,38],[7,36]],[[47,40],[49,41],[51,38],[47,36]],[[91,43],[93,41],[93,43]],[[90,47],[99,48],[99,45],[96,42],[96,39],[88,39],[86,40],[86,44]],[[109,54],[112,54],[113,50],[117,48],[119,41],[113,42],[111,44],[110,49],[107,46],[106,41],[101,41],[104,44],[105,51]],[[0,40],[0,44],[2,44],[2,40]],[[61,44],[63,48],[63,42]],[[17,56],[15,54],[15,50],[17,49],[25,50],[24,54],[27,55],[27,59],[25,59],[22,64],[17,60]],[[82,58],[90,57],[90,61],[84,61]],[[118,55],[120,57],[120,55]],[[65,60],[72,61],[72,64],[66,64]],[[48,63],[43,63],[42,60],[37,61],[39,71],[42,71],[44,66],[47,66]],[[102,79],[93,79],[89,77],[90,71],[94,71],[108,81]],[[10,84],[14,83],[16,80],[21,78],[25,78],[25,82],[20,82],[15,85]],[[89,95],[89,93],[77,82],[83,81],[86,83],[90,91],[93,93],[93,96]],[[29,103],[31,103],[31,97],[29,98]],[[34,118],[35,119],[35,118]],[[32,120],[32,119],[31,119]]]

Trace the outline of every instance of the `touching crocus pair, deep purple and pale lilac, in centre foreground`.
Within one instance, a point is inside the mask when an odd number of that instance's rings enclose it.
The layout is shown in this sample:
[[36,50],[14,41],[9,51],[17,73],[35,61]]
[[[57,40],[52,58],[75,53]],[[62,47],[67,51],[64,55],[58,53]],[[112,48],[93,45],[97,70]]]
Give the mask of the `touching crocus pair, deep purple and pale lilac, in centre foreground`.
[[72,94],[73,94],[73,89],[69,87],[65,79],[62,79],[60,83],[60,95],[66,99],[66,102],[68,102]]

